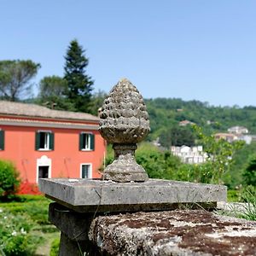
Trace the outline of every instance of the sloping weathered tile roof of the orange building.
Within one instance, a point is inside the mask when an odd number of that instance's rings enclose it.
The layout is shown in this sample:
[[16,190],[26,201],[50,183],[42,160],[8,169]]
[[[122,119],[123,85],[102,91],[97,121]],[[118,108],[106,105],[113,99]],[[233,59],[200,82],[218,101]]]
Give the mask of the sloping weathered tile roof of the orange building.
[[90,113],[71,112],[49,109],[36,104],[0,101],[0,114],[11,114],[33,118],[75,119],[84,121],[99,121],[99,118]]

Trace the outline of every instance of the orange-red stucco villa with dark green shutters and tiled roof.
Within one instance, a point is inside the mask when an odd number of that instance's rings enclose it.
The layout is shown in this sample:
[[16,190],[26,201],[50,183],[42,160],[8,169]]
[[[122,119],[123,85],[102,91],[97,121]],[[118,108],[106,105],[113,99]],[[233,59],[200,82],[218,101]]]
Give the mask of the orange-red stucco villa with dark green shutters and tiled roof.
[[98,125],[88,113],[0,101],[0,159],[15,163],[23,183],[100,177],[106,143]]

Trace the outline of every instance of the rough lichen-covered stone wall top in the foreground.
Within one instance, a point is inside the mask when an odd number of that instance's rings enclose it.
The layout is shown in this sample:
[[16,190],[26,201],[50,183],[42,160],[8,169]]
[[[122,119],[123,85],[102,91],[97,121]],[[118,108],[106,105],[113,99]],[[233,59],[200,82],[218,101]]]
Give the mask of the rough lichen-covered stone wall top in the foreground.
[[101,216],[89,238],[103,255],[256,255],[256,222],[206,211]]

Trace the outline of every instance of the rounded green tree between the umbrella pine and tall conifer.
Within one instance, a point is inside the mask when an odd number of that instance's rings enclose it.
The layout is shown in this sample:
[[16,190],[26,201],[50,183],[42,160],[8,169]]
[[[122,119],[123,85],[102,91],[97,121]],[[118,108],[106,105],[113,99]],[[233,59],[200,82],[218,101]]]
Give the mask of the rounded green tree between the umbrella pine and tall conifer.
[[61,77],[44,77],[39,83],[38,103],[49,108],[74,111],[67,96],[67,80]]

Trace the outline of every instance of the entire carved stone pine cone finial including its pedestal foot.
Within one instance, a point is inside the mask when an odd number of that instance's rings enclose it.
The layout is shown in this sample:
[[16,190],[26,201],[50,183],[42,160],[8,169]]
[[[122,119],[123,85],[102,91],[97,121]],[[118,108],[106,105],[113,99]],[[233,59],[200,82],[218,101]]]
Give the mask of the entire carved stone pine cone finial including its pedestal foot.
[[135,160],[137,143],[150,131],[148,112],[143,96],[127,79],[110,91],[100,114],[99,131],[113,143],[114,160],[103,172],[103,179],[116,182],[143,182],[148,174]]

